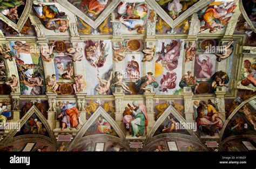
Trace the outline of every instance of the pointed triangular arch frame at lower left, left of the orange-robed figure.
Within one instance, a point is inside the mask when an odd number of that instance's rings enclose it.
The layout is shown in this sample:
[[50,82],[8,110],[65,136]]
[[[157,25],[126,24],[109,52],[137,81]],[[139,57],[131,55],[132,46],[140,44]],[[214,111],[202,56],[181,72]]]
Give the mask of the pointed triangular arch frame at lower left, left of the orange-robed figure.
[[[28,121],[28,119],[30,118],[30,116],[32,114],[36,114],[37,117],[41,120],[41,122],[44,124],[45,128],[46,128],[46,131],[48,131],[49,133],[49,137],[50,137],[50,140],[51,140],[51,143],[56,147],[57,144],[55,142],[55,138],[53,136],[53,132],[51,131],[51,127],[50,125],[48,124],[47,120],[45,119],[44,115],[36,108],[35,105],[32,105],[32,107],[29,109],[28,112],[26,112],[26,114],[22,117],[22,119],[20,119],[18,121],[19,123],[19,126],[23,126],[25,124],[26,121]],[[8,142],[8,140],[11,140],[13,138],[19,138],[20,136],[16,136],[16,133],[18,132],[18,130],[11,130],[10,133],[4,138],[3,140],[3,143],[5,144],[6,142]],[[23,135],[23,136],[28,136],[28,137],[33,137],[33,136],[38,136],[38,135]],[[39,136],[42,136],[42,135],[39,135]],[[42,136],[43,137],[43,136]],[[44,136],[44,138],[48,138],[46,136]]]

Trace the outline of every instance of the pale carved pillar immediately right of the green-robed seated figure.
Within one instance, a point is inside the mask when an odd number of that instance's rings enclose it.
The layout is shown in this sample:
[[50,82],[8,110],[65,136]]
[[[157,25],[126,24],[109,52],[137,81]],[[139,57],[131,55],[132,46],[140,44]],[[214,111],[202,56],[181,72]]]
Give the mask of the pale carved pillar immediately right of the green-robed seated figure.
[[154,123],[156,123],[156,121],[154,120],[154,116],[155,116],[155,112],[154,112],[154,95],[156,93],[153,92],[145,92],[144,93],[144,97],[146,100],[146,107],[147,107],[147,118],[148,118],[148,122],[147,122],[147,133],[150,132],[150,130],[152,129],[152,126],[154,125]]

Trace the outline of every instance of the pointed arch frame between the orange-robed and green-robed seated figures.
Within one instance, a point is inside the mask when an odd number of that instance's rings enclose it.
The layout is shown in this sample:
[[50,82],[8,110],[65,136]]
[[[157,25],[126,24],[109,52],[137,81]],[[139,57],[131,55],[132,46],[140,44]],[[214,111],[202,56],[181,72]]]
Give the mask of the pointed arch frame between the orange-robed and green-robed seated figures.
[[[102,115],[107,122],[109,122],[112,126],[112,128],[117,132],[117,135],[119,136],[119,138],[127,143],[127,140],[125,139],[124,133],[122,132],[122,130],[119,128],[118,124],[116,123],[116,121],[113,120],[113,118],[107,114],[107,112],[102,108],[99,107],[93,114],[92,116],[89,118],[89,120],[87,120],[84,125],[82,126],[82,128],[79,130],[79,132],[77,133],[77,136],[75,137],[75,139],[73,140],[73,142],[70,144],[70,147],[72,147],[73,145],[76,145],[80,142],[80,139],[83,139],[84,137],[84,133],[90,128],[90,126],[96,121],[96,119],[98,118],[98,116]],[[85,136],[88,137],[88,136]]]

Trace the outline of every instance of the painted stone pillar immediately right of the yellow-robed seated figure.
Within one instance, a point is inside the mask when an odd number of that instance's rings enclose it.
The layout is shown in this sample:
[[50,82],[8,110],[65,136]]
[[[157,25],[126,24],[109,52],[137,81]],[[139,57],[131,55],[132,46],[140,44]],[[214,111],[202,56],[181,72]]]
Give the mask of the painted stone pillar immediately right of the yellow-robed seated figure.
[[219,117],[223,120],[223,122],[226,121],[226,114],[225,114],[225,95],[226,95],[226,87],[217,87],[215,91],[216,99],[215,102],[217,102],[217,108],[219,109]]

